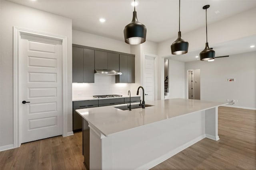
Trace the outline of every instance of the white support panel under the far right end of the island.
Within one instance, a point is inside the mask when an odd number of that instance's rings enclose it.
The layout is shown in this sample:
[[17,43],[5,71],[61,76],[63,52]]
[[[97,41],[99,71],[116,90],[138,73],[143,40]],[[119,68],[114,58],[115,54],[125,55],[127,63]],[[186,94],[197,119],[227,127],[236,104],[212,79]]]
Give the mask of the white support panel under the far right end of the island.
[[205,133],[206,137],[218,141],[218,107],[205,111]]

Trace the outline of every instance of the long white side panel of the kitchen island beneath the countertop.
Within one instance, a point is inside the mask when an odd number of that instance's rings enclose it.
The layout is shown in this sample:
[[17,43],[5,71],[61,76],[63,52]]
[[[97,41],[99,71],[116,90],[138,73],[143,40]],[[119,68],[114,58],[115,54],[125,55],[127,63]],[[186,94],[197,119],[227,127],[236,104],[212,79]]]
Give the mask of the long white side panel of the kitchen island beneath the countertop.
[[[90,143],[93,143],[90,149],[96,149],[94,152],[98,153],[98,158],[94,159],[102,161],[98,162],[102,166],[98,166],[99,169],[149,169],[204,139],[205,120],[205,111],[198,111],[104,138],[90,131]],[[92,158],[90,167],[92,168]]]

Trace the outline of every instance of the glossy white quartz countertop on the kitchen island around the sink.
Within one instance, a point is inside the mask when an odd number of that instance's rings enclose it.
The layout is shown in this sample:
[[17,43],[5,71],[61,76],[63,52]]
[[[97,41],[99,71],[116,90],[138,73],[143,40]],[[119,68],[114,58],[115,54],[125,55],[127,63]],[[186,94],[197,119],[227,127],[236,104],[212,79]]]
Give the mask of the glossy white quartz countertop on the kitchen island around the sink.
[[196,111],[226,105],[227,103],[177,98],[156,100],[146,102],[146,104],[154,106],[146,107],[145,109],[132,109],[132,111],[115,108],[116,106],[127,106],[127,104],[122,104],[77,109],[76,112],[96,127],[103,135],[109,136],[120,131],[125,131]]

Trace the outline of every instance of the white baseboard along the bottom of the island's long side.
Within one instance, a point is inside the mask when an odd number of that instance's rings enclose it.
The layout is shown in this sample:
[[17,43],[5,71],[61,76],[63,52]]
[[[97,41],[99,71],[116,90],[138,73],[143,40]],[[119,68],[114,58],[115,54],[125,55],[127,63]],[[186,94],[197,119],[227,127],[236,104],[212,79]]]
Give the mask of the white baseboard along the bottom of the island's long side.
[[140,166],[139,168],[136,168],[136,170],[142,170],[142,169],[150,169],[153,168],[154,166],[160,164],[161,162],[164,162],[165,160],[169,159],[170,157],[174,156],[175,154],[177,154],[178,152],[181,152],[182,150],[190,147],[191,145],[194,145],[195,143],[197,143],[198,141],[201,141],[202,139],[204,139],[206,137],[206,135],[201,135],[195,139],[193,139],[192,141],[189,141],[188,143],[185,143],[184,145],[168,152],[167,154],[164,154],[163,156],[160,156],[159,158],[156,158],[155,160],[152,160],[151,162],[148,162],[142,166]]

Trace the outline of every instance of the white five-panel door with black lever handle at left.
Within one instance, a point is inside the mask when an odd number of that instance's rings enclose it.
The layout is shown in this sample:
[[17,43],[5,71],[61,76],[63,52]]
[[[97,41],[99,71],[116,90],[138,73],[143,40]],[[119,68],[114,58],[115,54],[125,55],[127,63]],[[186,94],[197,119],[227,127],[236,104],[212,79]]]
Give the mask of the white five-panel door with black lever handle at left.
[[21,143],[62,135],[61,42],[22,35],[20,45]]

